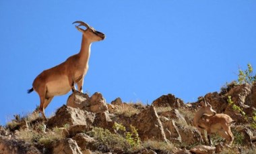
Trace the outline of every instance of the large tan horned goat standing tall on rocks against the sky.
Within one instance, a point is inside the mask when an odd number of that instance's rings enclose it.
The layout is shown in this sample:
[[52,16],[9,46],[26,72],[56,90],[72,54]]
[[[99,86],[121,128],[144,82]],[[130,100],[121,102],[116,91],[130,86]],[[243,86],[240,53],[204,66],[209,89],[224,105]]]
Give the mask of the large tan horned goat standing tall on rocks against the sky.
[[[75,84],[79,92],[83,92],[84,76],[88,71],[88,62],[90,58],[90,47],[92,42],[104,40],[105,35],[96,31],[83,21],[75,21],[78,31],[82,32],[82,45],[78,54],[70,56],[67,60],[58,66],[44,70],[35,79],[32,88],[28,93],[35,90],[40,97],[39,112],[46,119],[44,109],[49,105],[54,96],[67,94],[70,90],[75,91]],[[85,26],[86,29],[80,28]]]

